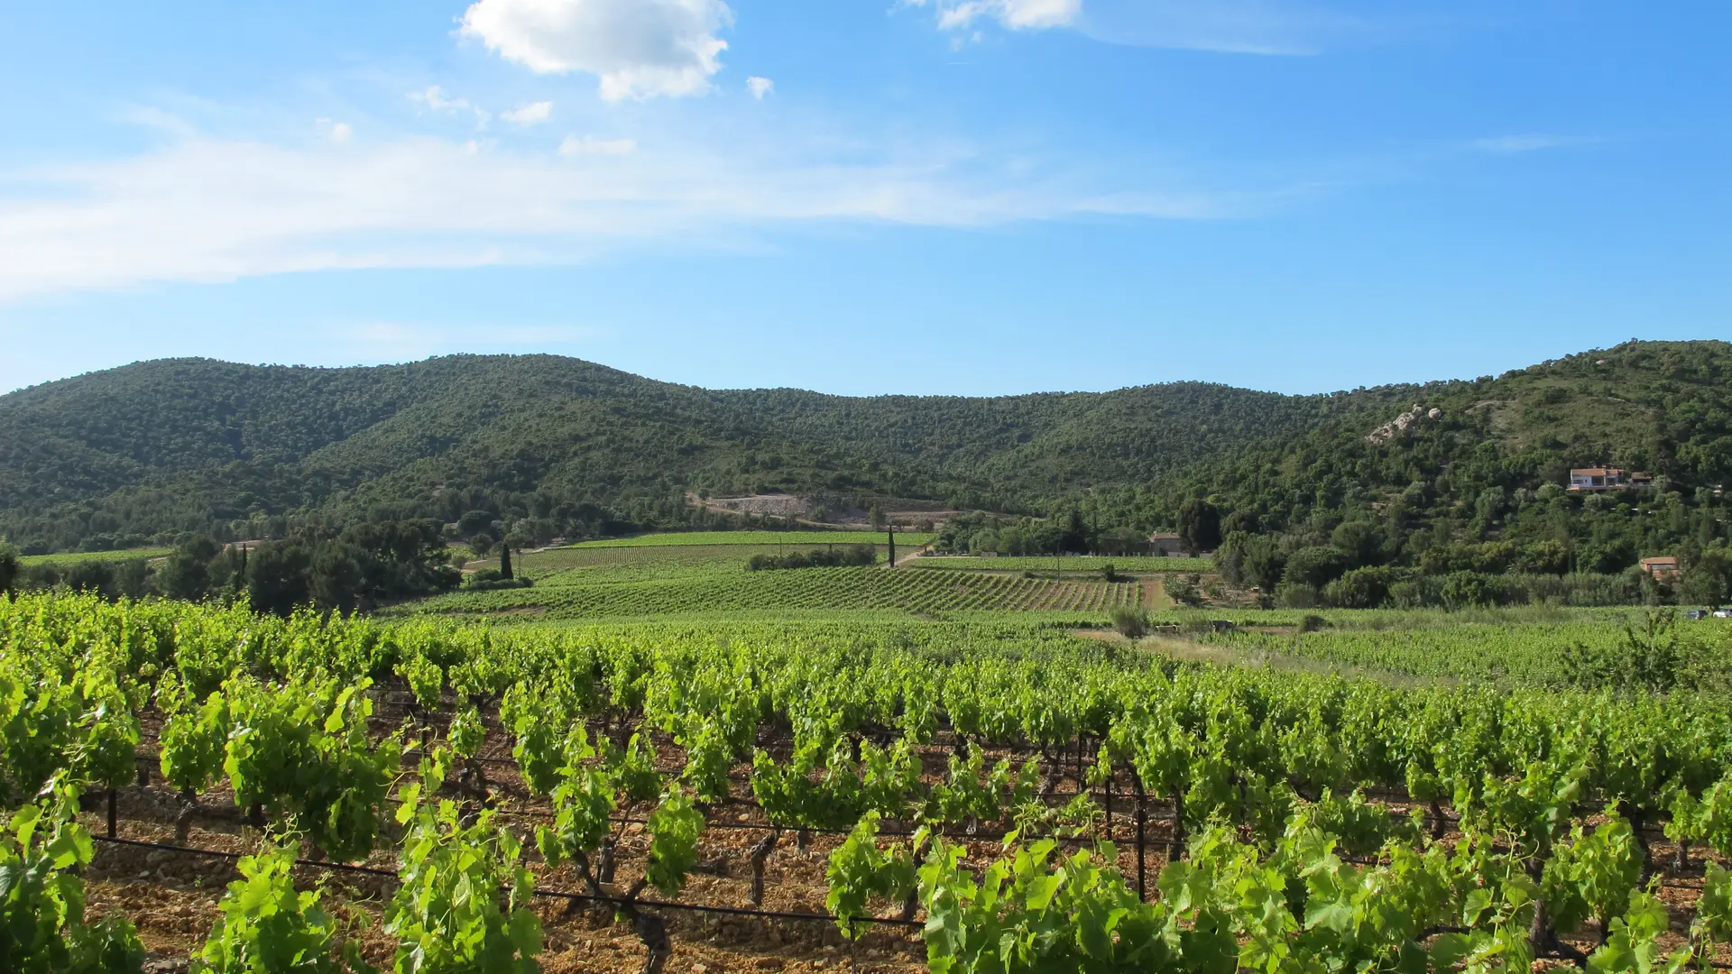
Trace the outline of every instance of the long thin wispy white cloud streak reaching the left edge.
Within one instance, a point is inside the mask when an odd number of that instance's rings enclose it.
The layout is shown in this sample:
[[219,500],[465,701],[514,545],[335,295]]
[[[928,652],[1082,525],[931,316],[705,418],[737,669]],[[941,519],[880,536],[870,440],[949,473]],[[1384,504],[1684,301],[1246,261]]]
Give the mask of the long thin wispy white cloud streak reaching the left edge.
[[[1082,215],[1221,218],[1268,198],[1102,185],[1027,158],[901,144],[861,154],[762,133],[566,139],[559,154],[452,139],[272,146],[187,139],[132,158],[0,180],[0,302],[156,281],[301,270],[585,260],[802,222],[984,227]],[[1121,180],[1122,182],[1122,180]]]

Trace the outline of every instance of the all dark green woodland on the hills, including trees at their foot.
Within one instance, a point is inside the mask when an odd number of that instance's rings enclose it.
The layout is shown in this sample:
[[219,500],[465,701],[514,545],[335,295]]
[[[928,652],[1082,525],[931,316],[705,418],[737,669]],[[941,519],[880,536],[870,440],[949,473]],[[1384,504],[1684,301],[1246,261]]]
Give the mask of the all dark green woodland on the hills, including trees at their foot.
[[[1652,482],[1578,496],[1574,466]],[[312,537],[339,546],[326,574],[353,584],[320,596],[308,575],[265,601],[339,608],[440,588],[357,581],[388,574],[357,555],[378,544],[345,537],[357,525],[424,522],[492,551],[736,527],[689,494],[741,492],[994,511],[944,525],[939,548],[956,553],[1136,556],[1150,530],[1174,530],[1188,551],[1219,546],[1230,582],[1285,589],[1290,605],[1716,605],[1732,600],[1729,480],[1723,341],[1309,397],[1195,383],[1003,399],[712,392],[556,357],[161,360],[0,397],[0,537],[24,555],[178,546],[187,532]],[[1654,555],[1680,556],[1684,577],[1644,582],[1633,565]],[[307,558],[319,574],[322,555]],[[69,588],[144,591],[137,568],[83,570]],[[1486,581],[1507,574],[1588,581]]]

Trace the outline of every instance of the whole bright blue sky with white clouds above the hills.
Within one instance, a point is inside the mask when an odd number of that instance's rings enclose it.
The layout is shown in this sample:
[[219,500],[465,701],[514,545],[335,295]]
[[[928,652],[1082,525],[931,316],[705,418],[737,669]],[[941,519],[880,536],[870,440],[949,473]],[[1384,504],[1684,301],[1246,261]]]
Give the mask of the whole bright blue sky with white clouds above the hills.
[[1732,338],[1732,5],[12,3],[0,390],[1470,378]]

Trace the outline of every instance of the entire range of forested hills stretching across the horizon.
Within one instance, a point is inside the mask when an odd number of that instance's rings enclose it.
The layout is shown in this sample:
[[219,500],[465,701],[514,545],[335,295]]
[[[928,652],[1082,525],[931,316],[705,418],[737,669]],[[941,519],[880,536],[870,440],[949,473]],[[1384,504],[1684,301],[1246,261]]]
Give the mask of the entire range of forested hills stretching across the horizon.
[[[0,397],[0,537],[73,549],[473,511],[582,536],[679,523],[688,489],[1081,508],[1091,525],[1136,529],[1173,527],[1186,499],[1207,497],[1228,530],[1252,534],[1315,541],[1353,515],[1391,534],[1496,536],[1517,490],[1569,466],[1649,470],[1690,504],[1732,480],[1729,380],[1720,341],[1309,397],[1205,383],[999,399],[719,392],[553,355],[156,360]],[[1367,438],[1415,404],[1422,419]],[[1476,522],[1477,506],[1496,511]]]

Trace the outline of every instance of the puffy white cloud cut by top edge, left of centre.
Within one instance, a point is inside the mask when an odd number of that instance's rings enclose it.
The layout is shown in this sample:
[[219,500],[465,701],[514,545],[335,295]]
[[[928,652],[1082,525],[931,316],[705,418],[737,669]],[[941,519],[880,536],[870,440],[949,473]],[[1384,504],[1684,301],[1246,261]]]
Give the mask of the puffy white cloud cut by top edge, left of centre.
[[480,0],[462,33],[539,75],[596,75],[620,101],[707,94],[731,23],[722,0]]

